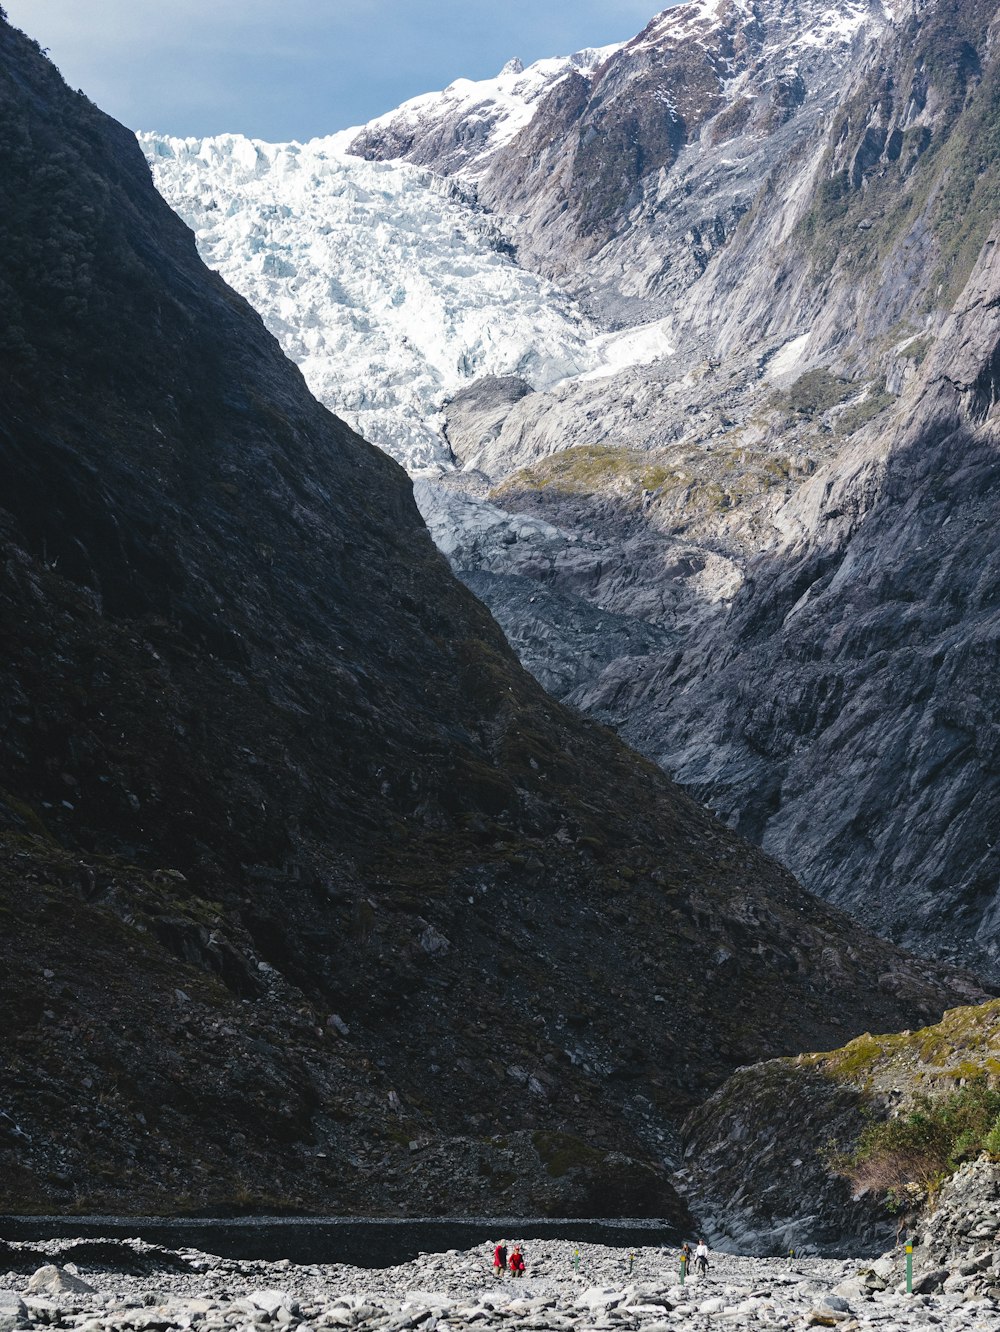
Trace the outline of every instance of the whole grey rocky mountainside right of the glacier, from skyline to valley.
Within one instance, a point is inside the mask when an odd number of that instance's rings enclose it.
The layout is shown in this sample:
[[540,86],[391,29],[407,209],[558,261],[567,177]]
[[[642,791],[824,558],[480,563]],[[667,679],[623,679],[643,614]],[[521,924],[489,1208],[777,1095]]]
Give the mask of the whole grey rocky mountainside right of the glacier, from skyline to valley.
[[[800,96],[767,63],[779,29]],[[473,417],[457,397],[470,470],[422,501],[561,697],[815,891],[993,974],[996,49],[977,0],[684,5],[571,113],[537,112],[477,163],[481,197],[522,262],[555,273],[551,240],[606,317],[668,308],[671,353],[513,402],[485,382]],[[654,75],[688,97],[676,145],[655,89],[638,96]],[[378,133],[356,148],[379,155]],[[626,166],[593,188],[615,161],[638,164],[625,200]],[[535,169],[561,212],[531,210]],[[692,218],[703,196],[719,206]]]

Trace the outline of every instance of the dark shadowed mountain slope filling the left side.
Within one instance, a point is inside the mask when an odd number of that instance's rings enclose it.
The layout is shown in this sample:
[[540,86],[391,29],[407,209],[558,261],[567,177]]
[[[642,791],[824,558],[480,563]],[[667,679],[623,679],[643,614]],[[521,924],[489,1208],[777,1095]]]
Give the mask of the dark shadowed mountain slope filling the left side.
[[4,1209],[682,1220],[734,1067],[981,994],[546,695],[134,137],[0,51]]

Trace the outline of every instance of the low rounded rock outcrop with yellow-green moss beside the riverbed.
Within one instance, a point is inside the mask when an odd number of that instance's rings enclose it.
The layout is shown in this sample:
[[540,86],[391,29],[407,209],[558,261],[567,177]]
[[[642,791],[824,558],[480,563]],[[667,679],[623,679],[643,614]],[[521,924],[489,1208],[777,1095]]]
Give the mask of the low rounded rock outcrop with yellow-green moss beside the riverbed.
[[[979,1151],[971,1138],[959,1140],[959,1130],[955,1142],[932,1150],[929,1135],[921,1142],[916,1132],[892,1150],[875,1144],[859,1156],[858,1148],[872,1126],[909,1115],[928,1122],[935,1106],[985,1084],[996,1072],[997,1048],[1000,1004],[993,1000],[951,1010],[931,1027],[866,1032],[826,1054],[742,1068],[684,1123],[676,1181],[714,1241],[738,1252],[877,1253],[920,1227],[927,1239],[917,1268],[945,1268],[947,1275],[969,1259],[972,1239],[992,1235],[983,1229],[971,1239],[976,1227],[965,1221],[987,1188],[969,1180],[993,1180],[995,1192],[995,1167],[991,1173],[985,1164],[963,1164],[953,1173],[951,1152],[961,1159]],[[928,1207],[928,1199],[949,1173],[940,1199],[941,1205],[957,1199],[959,1220],[945,1227],[928,1217],[939,1205]],[[967,1191],[968,1204],[961,1201]]]

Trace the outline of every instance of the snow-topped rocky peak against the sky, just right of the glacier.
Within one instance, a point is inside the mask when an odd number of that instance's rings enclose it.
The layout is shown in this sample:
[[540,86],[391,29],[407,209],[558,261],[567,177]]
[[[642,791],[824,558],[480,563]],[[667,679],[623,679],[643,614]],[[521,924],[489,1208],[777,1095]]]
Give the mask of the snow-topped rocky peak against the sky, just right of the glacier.
[[531,67],[534,83],[545,68],[546,95],[487,152],[462,152],[447,92],[418,116],[407,105],[373,121],[352,151],[467,173],[479,201],[514,222],[526,266],[636,322],[671,308],[775,163],[835,112],[889,12],[880,0],[694,0],[593,64],[555,64],[557,77],[553,61]]

